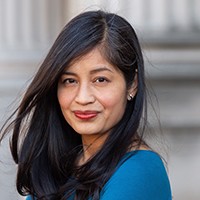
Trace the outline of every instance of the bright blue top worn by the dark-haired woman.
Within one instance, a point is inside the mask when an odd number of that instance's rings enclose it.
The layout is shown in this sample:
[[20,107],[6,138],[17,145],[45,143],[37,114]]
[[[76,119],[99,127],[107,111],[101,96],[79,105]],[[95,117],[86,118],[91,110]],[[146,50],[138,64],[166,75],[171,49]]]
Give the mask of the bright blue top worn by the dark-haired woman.
[[158,154],[149,150],[125,154],[100,193],[100,200],[124,199],[172,200],[169,179]]

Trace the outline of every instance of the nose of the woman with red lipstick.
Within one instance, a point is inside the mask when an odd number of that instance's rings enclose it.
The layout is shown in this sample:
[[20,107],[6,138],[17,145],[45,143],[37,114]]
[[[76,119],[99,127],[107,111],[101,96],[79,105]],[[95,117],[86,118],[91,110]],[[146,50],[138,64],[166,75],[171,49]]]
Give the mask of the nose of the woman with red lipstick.
[[75,101],[82,105],[87,105],[95,101],[92,89],[88,84],[80,84]]

